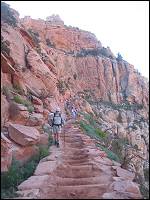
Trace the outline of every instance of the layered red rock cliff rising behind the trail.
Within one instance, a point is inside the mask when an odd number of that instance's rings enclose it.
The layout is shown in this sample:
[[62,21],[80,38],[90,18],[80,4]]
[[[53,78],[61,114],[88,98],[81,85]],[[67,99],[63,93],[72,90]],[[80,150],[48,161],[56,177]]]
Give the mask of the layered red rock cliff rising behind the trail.
[[[2,10],[1,31],[1,128],[5,136],[14,137],[10,122],[12,126],[31,126],[45,144],[48,137],[41,127],[47,123],[48,113],[57,106],[64,113],[64,102],[70,98],[79,110],[97,113],[102,130],[111,129],[108,134],[137,145],[142,161],[132,159],[129,168],[143,175],[144,163],[149,159],[147,80],[133,65],[103,47],[94,34],[64,25],[59,16],[46,21],[20,19],[16,11],[6,4],[3,7],[9,10]],[[111,105],[107,107],[106,103]],[[120,105],[132,109],[116,109]],[[26,154],[28,160],[29,155],[37,153],[34,144],[18,146],[22,145],[17,141],[19,137],[23,140],[21,132],[11,139],[15,151],[9,150],[9,142],[2,138],[6,148],[2,171],[9,169],[12,156],[20,160]],[[136,163],[140,163],[138,169]]]

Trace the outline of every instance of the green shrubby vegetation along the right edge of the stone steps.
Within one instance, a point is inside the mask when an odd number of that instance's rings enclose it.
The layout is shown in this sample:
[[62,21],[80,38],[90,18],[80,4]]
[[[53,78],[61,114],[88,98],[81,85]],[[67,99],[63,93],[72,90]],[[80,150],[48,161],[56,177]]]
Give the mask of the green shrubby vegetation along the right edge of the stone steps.
[[82,112],[80,114],[84,116],[84,120],[79,122],[81,129],[91,138],[95,139],[96,145],[107,153],[108,158],[125,165],[124,162],[127,162],[127,159],[125,159],[123,151],[129,145],[128,140],[110,138],[109,133],[99,128],[100,123],[92,115]]

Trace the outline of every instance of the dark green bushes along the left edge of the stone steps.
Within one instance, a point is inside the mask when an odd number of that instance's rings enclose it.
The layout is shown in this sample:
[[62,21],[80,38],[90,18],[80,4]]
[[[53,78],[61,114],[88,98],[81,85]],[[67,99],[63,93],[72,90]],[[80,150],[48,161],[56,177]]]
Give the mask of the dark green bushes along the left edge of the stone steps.
[[[50,145],[51,138],[49,139]],[[13,159],[9,171],[1,173],[1,198],[17,197],[17,186],[32,176],[39,161],[48,155],[48,147],[39,146],[39,154],[33,156],[23,166]]]

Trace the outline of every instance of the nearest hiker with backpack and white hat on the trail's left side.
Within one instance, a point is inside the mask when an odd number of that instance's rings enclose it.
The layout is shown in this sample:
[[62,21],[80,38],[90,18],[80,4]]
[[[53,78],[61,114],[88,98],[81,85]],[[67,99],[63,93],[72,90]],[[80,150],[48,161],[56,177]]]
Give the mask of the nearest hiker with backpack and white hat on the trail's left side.
[[62,119],[60,108],[57,108],[52,120],[54,143],[57,147],[59,147],[59,134],[61,133],[62,125],[64,125],[64,120]]

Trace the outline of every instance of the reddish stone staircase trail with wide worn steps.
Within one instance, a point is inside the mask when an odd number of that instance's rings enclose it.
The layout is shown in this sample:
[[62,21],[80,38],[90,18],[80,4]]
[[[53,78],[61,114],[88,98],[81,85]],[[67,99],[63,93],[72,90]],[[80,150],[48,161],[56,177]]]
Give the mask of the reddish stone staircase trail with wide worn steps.
[[[103,157],[104,152],[71,121],[63,132],[60,148],[52,146],[50,156],[40,161],[34,175],[18,186],[18,199],[141,198],[133,174],[127,179],[117,176],[119,163]],[[124,188],[119,187],[121,183]]]

